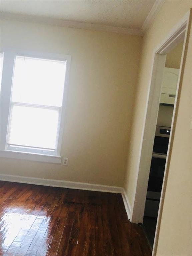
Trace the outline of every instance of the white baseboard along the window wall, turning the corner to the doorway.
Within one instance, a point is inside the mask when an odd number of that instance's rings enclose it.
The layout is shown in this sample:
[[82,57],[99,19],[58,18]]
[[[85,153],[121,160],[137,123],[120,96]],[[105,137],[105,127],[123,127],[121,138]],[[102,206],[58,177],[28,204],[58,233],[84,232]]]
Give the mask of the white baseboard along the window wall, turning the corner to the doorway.
[[43,179],[43,178],[24,177],[24,176],[16,176],[16,175],[8,175],[8,174],[0,174],[0,180],[41,185],[41,186],[50,186],[50,187],[61,187],[61,188],[82,189],[82,190],[101,191],[101,192],[110,192],[110,193],[120,193],[122,194],[128,219],[130,219],[130,216],[131,216],[130,203],[125,193],[125,190],[122,187],[113,187],[113,186],[73,182],[73,181],[65,181],[65,180],[52,180],[52,179]]

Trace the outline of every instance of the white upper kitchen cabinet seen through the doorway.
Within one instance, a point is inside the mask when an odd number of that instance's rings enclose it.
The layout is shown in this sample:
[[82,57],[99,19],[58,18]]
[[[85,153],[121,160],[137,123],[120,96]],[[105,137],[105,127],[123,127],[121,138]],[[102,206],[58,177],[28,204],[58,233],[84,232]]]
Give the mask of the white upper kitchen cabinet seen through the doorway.
[[179,69],[164,68],[160,103],[171,104],[175,102]]

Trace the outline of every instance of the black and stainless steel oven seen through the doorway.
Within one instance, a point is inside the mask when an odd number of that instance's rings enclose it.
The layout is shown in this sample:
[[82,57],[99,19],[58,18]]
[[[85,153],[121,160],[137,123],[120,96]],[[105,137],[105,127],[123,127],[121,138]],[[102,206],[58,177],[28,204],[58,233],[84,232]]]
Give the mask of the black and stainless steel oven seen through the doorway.
[[170,131],[170,127],[156,127],[144,216],[158,215]]

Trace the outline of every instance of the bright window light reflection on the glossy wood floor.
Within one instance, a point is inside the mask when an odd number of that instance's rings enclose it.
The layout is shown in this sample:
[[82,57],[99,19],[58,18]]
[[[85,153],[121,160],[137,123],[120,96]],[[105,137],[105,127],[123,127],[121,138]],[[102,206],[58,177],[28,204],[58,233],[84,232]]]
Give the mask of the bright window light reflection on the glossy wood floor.
[[[0,215],[0,255],[8,250],[12,241],[18,242],[18,246],[21,246],[25,242],[25,236],[30,231],[33,232],[33,237],[35,237],[34,233],[38,232],[41,225],[46,231],[50,224],[50,216],[47,215],[47,208],[43,209],[40,206],[37,210],[30,209],[29,206],[26,209],[21,206],[4,209],[2,216]],[[38,222],[36,229],[35,222]]]

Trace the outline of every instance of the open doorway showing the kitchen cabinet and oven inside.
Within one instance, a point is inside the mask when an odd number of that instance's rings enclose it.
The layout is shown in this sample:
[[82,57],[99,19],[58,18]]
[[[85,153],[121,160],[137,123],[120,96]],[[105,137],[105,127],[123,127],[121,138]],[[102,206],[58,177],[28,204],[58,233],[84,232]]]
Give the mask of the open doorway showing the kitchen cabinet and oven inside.
[[183,43],[184,42],[181,41],[167,53],[163,72],[161,96],[143,218],[144,231],[151,248],[153,248],[155,238]]

